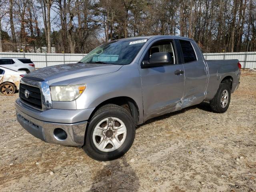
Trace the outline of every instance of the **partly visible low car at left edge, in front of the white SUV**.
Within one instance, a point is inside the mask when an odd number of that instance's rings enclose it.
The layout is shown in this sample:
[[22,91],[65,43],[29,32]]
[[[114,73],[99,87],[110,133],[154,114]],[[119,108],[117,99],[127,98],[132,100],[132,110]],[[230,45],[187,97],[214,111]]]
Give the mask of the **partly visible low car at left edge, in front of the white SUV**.
[[20,79],[25,74],[25,71],[14,71],[8,68],[0,67],[0,93],[10,95],[18,91]]

